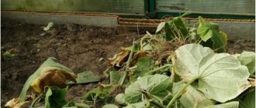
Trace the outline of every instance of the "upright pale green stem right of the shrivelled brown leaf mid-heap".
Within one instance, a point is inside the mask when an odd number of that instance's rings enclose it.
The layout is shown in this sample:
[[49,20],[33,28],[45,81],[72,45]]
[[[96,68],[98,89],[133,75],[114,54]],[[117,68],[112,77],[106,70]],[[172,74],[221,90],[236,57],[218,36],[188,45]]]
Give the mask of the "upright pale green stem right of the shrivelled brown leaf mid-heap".
[[129,58],[128,58],[127,62],[126,62],[126,70],[124,71],[124,74],[123,74],[122,78],[119,80],[119,85],[120,86],[123,86],[123,83],[124,83],[124,81],[126,79],[126,76],[128,74],[128,71],[129,71],[129,68],[130,68],[130,60],[133,57],[133,51],[134,51],[135,44],[136,44],[136,42],[134,42],[134,40],[133,40],[133,48],[130,51]]

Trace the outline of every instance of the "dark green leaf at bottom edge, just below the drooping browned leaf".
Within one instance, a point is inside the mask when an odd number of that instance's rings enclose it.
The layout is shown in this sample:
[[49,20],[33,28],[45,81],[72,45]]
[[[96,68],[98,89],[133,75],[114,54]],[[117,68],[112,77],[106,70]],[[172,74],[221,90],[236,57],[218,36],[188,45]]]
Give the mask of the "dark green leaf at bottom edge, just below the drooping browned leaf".
[[45,96],[45,106],[47,108],[61,108],[67,104],[65,96],[67,88],[58,89],[57,87],[49,87]]

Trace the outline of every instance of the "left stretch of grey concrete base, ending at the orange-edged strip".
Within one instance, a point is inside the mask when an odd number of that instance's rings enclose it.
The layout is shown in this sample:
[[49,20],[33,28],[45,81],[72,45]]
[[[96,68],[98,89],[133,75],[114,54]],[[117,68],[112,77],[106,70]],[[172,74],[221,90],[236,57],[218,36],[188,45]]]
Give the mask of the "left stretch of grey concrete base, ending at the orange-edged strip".
[[27,12],[1,12],[1,19],[12,19],[19,22],[47,25],[49,22],[56,24],[79,24],[102,27],[118,26],[118,16],[93,16],[93,15],[57,15],[57,14],[30,14]]

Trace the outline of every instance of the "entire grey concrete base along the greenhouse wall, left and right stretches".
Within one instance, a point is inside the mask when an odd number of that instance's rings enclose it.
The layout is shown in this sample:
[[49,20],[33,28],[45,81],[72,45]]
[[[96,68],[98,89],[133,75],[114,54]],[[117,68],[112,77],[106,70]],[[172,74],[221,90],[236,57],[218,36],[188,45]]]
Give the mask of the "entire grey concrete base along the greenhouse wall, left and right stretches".
[[[47,25],[48,22],[56,24],[79,24],[94,25],[102,27],[127,27],[134,29],[157,29],[157,25],[119,25],[116,15],[64,15],[49,13],[28,13],[28,12],[1,12],[2,19],[12,19],[20,22]],[[189,24],[195,24],[198,21],[191,20]],[[220,25],[220,30],[225,32],[229,39],[251,39],[255,40],[255,22],[216,22]],[[155,30],[154,29],[154,30]]]

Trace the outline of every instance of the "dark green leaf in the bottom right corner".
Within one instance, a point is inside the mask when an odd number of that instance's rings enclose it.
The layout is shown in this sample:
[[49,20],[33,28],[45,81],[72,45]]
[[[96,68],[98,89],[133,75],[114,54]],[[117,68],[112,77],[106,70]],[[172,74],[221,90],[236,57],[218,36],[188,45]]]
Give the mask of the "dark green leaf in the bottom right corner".
[[244,97],[245,108],[255,108],[255,89]]

